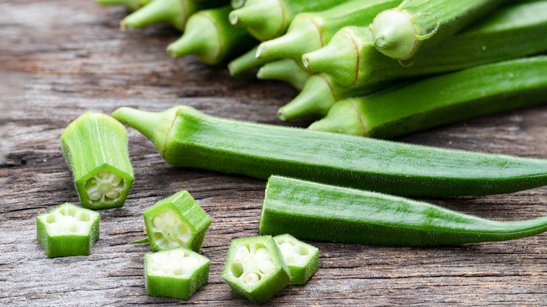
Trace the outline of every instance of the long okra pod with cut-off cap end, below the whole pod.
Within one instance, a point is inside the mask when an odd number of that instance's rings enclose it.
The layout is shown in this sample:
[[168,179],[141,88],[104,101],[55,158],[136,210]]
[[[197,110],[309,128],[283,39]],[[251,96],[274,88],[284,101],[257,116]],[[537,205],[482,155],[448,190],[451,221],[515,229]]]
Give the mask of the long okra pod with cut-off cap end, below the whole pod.
[[492,221],[381,193],[271,176],[262,234],[378,245],[453,245],[514,240],[547,231],[547,217]]

